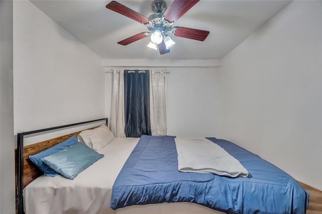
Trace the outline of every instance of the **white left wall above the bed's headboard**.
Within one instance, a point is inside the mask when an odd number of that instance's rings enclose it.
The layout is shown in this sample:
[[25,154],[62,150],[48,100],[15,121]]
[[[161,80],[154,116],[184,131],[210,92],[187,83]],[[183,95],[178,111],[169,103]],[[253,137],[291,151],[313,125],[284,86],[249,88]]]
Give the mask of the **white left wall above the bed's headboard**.
[[14,128],[105,117],[102,59],[29,1],[14,1]]

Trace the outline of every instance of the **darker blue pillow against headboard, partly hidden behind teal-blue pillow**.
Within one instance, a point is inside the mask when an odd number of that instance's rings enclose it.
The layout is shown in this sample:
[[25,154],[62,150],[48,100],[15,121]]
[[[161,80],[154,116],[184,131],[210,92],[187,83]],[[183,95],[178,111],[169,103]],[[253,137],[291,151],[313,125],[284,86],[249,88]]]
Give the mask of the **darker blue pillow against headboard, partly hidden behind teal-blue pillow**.
[[44,173],[44,175],[50,176],[50,177],[55,177],[56,175],[58,175],[58,173],[56,171],[54,171],[53,169],[51,169],[47,164],[45,164],[41,158],[46,157],[48,155],[51,155],[55,152],[58,152],[66,147],[72,146],[75,143],[77,143],[77,138],[76,135],[68,138],[67,140],[49,148],[46,149],[42,152],[39,152],[35,155],[31,155],[29,156],[29,159]]

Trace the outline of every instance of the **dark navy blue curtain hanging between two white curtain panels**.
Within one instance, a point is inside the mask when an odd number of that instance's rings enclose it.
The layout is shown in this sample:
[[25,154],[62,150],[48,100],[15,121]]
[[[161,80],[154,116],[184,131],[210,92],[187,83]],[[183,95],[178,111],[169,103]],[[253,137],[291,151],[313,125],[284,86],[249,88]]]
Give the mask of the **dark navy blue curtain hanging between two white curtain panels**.
[[[149,71],[124,70],[125,135],[151,135]],[[133,72],[134,71],[134,72]]]

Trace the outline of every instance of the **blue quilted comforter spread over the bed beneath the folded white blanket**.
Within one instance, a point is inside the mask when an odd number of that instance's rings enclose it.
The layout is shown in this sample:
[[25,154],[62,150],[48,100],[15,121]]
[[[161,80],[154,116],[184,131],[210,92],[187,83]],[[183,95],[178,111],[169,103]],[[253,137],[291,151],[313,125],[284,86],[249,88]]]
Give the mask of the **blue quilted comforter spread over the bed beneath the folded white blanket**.
[[309,194],[290,175],[226,140],[208,138],[252,175],[229,178],[178,171],[172,136],[141,136],[112,189],[111,208],[189,201],[226,213],[305,213]]

